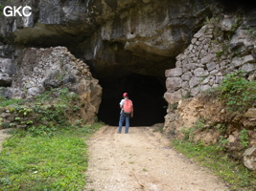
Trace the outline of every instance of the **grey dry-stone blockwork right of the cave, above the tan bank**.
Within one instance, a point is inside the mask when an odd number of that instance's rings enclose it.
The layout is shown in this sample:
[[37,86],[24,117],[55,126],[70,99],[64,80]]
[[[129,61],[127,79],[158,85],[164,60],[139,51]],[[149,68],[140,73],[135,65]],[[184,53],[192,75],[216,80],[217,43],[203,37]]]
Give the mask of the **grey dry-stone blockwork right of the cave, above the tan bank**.
[[211,19],[194,35],[189,47],[176,56],[175,68],[165,73],[165,98],[169,103],[217,87],[224,75],[236,71],[244,71],[248,79],[254,79],[256,40],[244,27],[248,21],[244,21],[231,40],[222,37],[224,32],[233,30],[238,20],[227,15],[218,22]]

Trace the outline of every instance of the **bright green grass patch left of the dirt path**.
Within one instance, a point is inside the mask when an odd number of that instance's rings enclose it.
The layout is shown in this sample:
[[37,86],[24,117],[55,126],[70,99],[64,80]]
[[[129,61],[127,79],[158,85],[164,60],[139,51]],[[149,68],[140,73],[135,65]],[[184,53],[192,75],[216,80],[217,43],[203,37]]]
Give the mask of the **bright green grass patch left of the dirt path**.
[[15,131],[0,154],[0,190],[82,190],[87,167],[84,139],[101,125],[61,130],[51,138],[42,136],[46,128]]

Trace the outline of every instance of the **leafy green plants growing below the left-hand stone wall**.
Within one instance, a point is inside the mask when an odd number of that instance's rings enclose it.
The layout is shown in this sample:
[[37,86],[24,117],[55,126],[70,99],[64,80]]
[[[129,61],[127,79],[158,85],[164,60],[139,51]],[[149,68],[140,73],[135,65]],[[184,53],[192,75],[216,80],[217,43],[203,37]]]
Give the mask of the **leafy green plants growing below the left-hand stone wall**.
[[14,117],[10,124],[4,124],[5,127],[22,127],[30,133],[35,132],[35,136],[53,136],[58,130],[70,126],[79,128],[82,124],[78,117],[80,96],[67,88],[51,90],[30,101],[3,100],[0,106],[9,110]]

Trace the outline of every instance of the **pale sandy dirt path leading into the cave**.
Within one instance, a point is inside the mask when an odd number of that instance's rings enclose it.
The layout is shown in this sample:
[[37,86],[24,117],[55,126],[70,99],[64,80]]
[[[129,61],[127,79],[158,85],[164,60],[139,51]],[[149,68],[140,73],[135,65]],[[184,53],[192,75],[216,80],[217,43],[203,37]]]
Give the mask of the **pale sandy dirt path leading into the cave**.
[[150,127],[130,127],[129,134],[103,127],[88,141],[85,191],[228,190],[209,171],[175,152],[169,142]]

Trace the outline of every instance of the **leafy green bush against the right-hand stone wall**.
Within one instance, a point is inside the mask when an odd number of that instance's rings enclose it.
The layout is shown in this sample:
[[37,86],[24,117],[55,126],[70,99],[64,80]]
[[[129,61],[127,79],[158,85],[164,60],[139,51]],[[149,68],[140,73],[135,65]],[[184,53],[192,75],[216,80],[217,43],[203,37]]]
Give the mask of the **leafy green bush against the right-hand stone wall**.
[[239,71],[226,75],[221,85],[213,91],[231,112],[244,112],[255,104],[256,81],[246,80],[244,72]]

